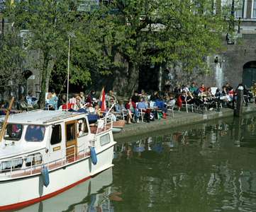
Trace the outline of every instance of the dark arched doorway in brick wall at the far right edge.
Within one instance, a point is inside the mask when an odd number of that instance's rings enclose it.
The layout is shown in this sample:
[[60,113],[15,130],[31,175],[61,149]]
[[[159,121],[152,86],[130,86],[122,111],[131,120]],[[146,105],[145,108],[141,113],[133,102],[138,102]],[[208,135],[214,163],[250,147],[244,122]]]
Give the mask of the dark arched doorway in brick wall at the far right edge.
[[256,61],[250,61],[243,66],[243,86],[250,88],[254,83],[256,83]]

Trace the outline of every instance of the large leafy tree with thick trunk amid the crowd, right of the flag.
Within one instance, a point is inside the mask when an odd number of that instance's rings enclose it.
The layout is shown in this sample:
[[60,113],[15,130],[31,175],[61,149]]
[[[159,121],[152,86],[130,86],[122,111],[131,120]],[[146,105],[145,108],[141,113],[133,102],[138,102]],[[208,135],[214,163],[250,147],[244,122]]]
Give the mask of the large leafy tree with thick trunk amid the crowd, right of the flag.
[[116,21],[113,43],[121,45],[128,61],[128,95],[135,89],[136,66],[178,61],[184,71],[199,69],[208,73],[204,57],[223,48],[219,41],[222,32],[233,35],[230,7],[222,7],[218,1],[113,2],[126,17],[126,24]]

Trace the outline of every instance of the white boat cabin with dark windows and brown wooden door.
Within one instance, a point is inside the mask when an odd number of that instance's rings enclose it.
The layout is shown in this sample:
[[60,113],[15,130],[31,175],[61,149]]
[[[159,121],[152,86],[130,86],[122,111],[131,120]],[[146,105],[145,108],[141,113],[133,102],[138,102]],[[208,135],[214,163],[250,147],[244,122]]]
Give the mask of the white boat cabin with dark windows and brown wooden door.
[[[113,142],[111,126],[89,126],[87,117],[85,113],[45,110],[10,115],[0,143],[0,179],[21,177],[24,172],[31,175],[37,172],[36,166],[62,167],[89,157],[91,147],[101,151]],[[4,116],[0,129],[3,123]]]

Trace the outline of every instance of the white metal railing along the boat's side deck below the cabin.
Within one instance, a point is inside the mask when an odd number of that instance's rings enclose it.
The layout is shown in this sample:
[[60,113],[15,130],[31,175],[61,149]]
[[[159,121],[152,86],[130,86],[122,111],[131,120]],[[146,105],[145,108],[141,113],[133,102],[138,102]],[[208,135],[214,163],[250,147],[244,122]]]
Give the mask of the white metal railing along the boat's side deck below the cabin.
[[[54,170],[55,168],[59,168],[62,166],[67,165],[68,163],[74,163],[77,160],[80,160],[82,158],[86,158],[89,154],[89,148],[86,148],[86,143],[82,144],[84,145],[84,148],[82,151],[79,151],[79,154],[76,154],[76,146],[69,146],[67,148],[60,149],[58,151],[52,152],[52,153],[45,153],[45,154],[38,154],[38,155],[29,155],[25,156],[23,158],[13,158],[12,160],[2,160],[2,163],[9,163],[11,165],[10,168],[0,170],[0,176],[7,176],[10,178],[16,178],[16,177],[26,177],[29,175],[38,174],[43,167],[47,167],[48,170]],[[82,147],[79,146],[79,147]],[[67,149],[74,148],[73,153],[66,154]],[[46,149],[46,148],[45,148]],[[57,158],[55,160],[51,160],[53,154],[60,153],[61,151],[61,157]],[[63,152],[65,151],[65,152]],[[47,161],[45,159],[47,158]],[[54,158],[54,157],[53,157]],[[21,163],[21,167],[16,167],[17,160],[19,160],[19,163]],[[23,162],[28,163],[29,165],[26,166],[23,164]],[[0,165],[1,165],[0,164]],[[1,167],[1,166],[0,166]]]

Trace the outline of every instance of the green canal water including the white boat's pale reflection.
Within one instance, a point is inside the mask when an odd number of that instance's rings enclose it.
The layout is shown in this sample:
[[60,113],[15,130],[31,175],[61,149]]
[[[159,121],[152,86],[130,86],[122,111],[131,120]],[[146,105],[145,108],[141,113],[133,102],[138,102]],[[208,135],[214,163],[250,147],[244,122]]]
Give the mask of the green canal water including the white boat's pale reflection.
[[256,211],[256,114],[118,139],[96,177],[20,211]]

